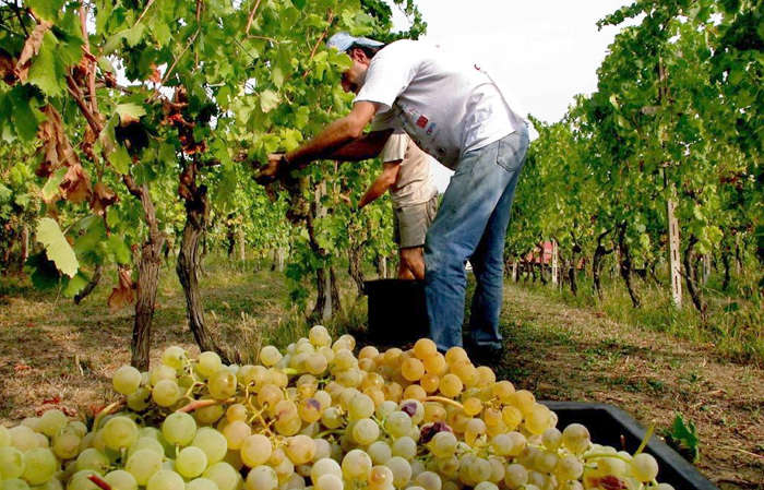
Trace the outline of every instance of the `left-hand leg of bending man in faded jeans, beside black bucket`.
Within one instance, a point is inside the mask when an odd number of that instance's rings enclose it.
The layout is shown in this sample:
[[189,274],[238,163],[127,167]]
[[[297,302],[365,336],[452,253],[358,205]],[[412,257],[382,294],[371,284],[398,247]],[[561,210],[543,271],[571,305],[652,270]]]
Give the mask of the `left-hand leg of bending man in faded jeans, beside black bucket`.
[[442,350],[462,345],[464,264],[515,175],[506,168],[506,155],[516,152],[504,140],[463,156],[427,234],[425,296],[430,338]]

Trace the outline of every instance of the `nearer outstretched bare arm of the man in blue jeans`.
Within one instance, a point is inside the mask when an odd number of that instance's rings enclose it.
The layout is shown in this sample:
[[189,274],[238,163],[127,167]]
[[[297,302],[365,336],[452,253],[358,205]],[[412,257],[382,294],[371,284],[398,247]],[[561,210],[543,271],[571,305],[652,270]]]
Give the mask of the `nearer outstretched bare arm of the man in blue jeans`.
[[[363,133],[363,128],[371,121],[379,109],[379,104],[366,100],[353,105],[350,113],[326,126],[315,138],[301,144],[286,155],[268,155],[268,165],[260,171],[258,180],[273,180],[278,174],[302,168],[313,160],[329,158],[339,148],[357,140]],[[289,168],[282,168],[284,159]]]

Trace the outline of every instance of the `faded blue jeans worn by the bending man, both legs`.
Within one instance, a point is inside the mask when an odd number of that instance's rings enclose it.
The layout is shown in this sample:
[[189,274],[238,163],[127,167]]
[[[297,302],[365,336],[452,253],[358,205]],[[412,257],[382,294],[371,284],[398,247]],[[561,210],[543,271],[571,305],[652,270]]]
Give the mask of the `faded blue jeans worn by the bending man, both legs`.
[[528,129],[517,131],[458,163],[425,242],[425,296],[430,338],[438,348],[462,346],[464,266],[473,264],[477,287],[469,332],[480,347],[501,348],[504,237],[517,178],[528,150]]

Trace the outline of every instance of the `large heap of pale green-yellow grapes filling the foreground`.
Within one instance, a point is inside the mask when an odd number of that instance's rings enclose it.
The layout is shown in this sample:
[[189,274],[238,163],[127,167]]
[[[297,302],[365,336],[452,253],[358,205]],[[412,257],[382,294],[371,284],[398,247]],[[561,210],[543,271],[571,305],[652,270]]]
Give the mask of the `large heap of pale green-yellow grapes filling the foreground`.
[[258,364],[170,347],[117,370],[89,431],[56,409],[0,427],[0,490],[671,489],[462,348],[355,347],[320,325]]

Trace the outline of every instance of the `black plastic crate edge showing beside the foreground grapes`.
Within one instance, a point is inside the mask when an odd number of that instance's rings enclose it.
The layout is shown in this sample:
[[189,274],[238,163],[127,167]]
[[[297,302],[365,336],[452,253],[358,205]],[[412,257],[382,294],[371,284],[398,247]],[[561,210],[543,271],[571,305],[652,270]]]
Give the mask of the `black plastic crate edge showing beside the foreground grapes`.
[[[586,426],[592,441],[625,450],[633,454],[645,438],[645,429],[629,414],[612,405],[580,402],[540,402],[559,417],[557,427],[563,430],[571,423]],[[655,456],[660,466],[658,481],[670,483],[677,490],[718,490],[687,459],[661,442],[654,433],[645,452]]]

